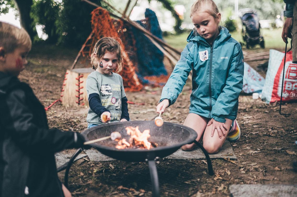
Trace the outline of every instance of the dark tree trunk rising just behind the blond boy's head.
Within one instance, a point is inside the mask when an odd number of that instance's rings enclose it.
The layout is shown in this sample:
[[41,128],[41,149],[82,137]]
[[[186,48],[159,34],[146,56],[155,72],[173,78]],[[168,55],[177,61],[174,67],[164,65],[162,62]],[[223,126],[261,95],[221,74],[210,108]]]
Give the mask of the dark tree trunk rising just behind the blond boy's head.
[[32,19],[30,17],[31,6],[33,4],[32,0],[14,0],[15,5],[18,8],[20,16],[20,25],[24,28],[30,35],[30,38],[33,39],[36,32],[32,28]]

